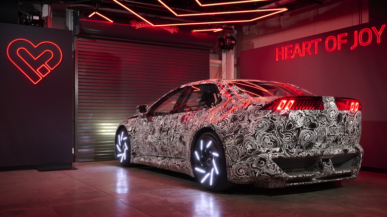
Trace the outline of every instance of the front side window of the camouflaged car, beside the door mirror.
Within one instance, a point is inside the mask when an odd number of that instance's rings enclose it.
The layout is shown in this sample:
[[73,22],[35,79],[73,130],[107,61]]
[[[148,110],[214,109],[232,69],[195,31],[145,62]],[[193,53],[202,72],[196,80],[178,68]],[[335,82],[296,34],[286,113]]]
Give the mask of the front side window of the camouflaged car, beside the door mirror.
[[[162,98],[150,111],[151,115],[163,115],[175,113],[177,109],[179,109],[179,102],[184,99],[184,88],[172,92]],[[180,103],[181,104],[181,103]]]

